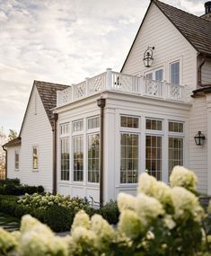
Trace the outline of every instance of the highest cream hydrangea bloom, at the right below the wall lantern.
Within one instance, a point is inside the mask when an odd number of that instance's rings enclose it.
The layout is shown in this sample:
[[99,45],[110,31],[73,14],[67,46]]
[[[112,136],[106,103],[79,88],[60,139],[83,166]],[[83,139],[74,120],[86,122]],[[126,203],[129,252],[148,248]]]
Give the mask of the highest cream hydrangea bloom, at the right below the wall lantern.
[[187,190],[196,191],[198,178],[194,172],[183,166],[174,166],[170,176],[171,187],[183,187]]

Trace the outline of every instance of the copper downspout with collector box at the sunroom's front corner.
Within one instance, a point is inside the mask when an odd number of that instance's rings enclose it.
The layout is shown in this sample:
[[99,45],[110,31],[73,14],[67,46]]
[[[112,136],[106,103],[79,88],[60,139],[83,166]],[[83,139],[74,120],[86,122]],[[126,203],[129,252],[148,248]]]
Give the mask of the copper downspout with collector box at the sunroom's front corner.
[[104,148],[104,107],[105,107],[105,99],[97,100],[98,107],[101,108],[101,136],[100,136],[100,207],[103,206],[103,148]]

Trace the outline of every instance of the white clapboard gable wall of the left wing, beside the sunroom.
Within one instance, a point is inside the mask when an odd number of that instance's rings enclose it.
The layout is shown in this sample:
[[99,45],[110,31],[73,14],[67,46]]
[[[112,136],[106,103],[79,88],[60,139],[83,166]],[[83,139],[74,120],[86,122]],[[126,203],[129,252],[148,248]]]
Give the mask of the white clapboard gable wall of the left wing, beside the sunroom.
[[[22,182],[42,185],[52,190],[52,128],[37,88],[34,87],[31,101],[22,127],[21,171]],[[39,147],[39,170],[32,169],[32,146]]]

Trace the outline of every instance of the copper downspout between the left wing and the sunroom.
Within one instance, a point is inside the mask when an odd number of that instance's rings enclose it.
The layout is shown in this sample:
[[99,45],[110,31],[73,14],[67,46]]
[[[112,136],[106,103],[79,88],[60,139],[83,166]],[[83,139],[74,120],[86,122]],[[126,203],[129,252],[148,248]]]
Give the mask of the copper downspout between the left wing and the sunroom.
[[57,113],[53,114],[53,194],[57,194]]

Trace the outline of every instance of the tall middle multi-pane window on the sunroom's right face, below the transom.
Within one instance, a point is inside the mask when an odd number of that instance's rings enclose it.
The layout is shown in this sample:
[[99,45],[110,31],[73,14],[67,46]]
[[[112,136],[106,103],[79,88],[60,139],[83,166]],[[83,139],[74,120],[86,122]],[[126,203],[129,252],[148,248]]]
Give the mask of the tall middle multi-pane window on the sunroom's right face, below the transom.
[[158,181],[162,180],[162,137],[145,137],[145,169]]

